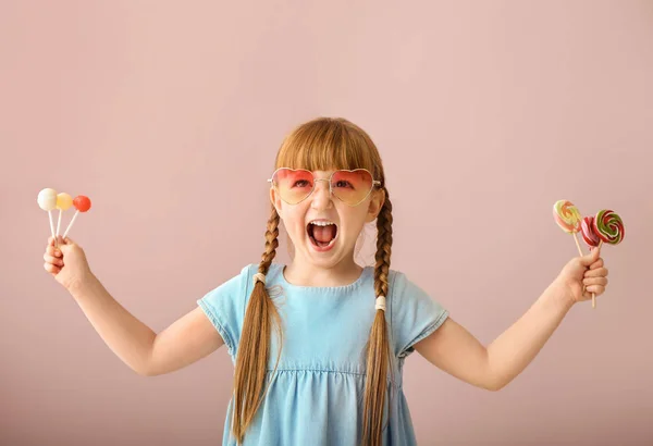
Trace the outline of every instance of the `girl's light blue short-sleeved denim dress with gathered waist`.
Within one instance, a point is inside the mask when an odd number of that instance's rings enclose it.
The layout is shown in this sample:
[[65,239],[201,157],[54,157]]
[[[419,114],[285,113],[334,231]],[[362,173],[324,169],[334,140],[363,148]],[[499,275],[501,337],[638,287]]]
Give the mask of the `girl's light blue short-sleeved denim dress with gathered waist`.
[[[215,326],[232,361],[238,340],[252,277],[258,264],[209,292],[197,302]],[[373,267],[366,267],[352,284],[335,287],[297,286],[286,282],[284,265],[272,263],[266,277],[283,322],[282,356],[272,376],[279,342],[272,332],[268,377],[273,380],[252,423],[245,446],[346,446],[360,443],[365,391],[365,346],[374,318]],[[448,317],[440,303],[391,270],[385,319],[395,361],[389,376],[383,445],[416,444],[402,372],[414,344],[433,333]],[[389,401],[390,395],[390,401]],[[235,446],[231,435],[233,398],[224,422],[223,445]]]

